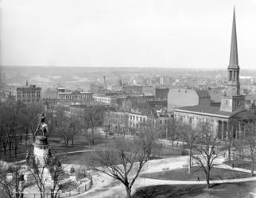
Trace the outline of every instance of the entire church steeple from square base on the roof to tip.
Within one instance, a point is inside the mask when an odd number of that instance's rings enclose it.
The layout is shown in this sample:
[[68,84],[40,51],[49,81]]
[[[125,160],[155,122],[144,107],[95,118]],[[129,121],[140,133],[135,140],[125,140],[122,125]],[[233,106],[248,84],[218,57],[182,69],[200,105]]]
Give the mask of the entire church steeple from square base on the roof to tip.
[[234,112],[244,108],[244,96],[240,94],[239,82],[239,52],[236,35],[235,8],[233,13],[232,35],[231,35],[231,54],[227,67],[227,89],[221,99],[220,111]]

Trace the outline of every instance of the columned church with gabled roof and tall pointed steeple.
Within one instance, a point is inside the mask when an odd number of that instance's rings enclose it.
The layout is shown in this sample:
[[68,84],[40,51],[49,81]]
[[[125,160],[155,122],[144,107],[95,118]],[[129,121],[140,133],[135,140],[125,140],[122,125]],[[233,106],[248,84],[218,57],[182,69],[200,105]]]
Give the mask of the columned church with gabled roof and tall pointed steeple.
[[[227,88],[221,98],[220,106],[211,105],[193,105],[174,109],[174,117],[181,123],[190,124],[192,128],[201,121],[207,121],[212,124],[216,131],[218,139],[227,137],[227,130],[231,128],[232,120],[235,120],[245,111],[245,96],[240,93],[239,82],[239,55],[236,35],[235,9],[233,14],[231,53],[230,61],[227,67]],[[233,125],[233,124],[232,124]],[[233,128],[233,127],[232,127]],[[239,124],[235,124],[232,129],[234,138],[237,131],[240,131]]]

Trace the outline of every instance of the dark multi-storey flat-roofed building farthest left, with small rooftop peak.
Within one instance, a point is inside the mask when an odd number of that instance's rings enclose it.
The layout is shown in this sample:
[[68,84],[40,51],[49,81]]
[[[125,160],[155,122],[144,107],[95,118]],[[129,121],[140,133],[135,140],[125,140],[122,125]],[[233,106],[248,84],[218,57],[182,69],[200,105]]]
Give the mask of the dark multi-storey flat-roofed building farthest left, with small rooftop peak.
[[39,102],[41,101],[41,87],[29,85],[26,82],[25,86],[17,87],[15,95],[16,101],[23,103]]

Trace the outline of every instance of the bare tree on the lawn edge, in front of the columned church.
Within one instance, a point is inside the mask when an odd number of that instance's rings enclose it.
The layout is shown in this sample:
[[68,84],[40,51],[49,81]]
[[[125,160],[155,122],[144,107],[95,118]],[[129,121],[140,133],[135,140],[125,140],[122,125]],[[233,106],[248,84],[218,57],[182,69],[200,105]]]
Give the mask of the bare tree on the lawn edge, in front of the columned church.
[[198,154],[192,154],[192,158],[194,158],[196,164],[204,170],[208,188],[210,188],[211,169],[217,166],[215,160],[221,154],[220,152],[216,152],[219,141],[215,137],[215,132],[212,131],[210,123],[200,123],[197,130],[199,136],[196,138],[194,150],[196,150]]

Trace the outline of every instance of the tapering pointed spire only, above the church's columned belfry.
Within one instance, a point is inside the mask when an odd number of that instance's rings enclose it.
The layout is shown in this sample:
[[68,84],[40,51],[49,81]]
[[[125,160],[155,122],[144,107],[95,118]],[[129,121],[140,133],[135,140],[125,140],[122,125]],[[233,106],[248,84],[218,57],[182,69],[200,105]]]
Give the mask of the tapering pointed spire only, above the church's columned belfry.
[[228,67],[239,67],[239,53],[236,36],[236,24],[235,24],[235,6],[233,13],[233,25],[232,25],[232,36],[231,36],[231,55]]

